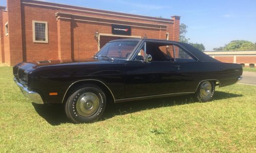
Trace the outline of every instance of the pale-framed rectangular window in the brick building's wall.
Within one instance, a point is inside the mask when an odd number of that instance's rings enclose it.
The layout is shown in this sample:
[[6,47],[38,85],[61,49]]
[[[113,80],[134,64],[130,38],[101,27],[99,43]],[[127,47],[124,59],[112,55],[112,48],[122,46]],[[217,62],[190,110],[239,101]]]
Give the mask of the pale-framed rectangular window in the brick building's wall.
[[33,22],[33,42],[48,43],[48,22]]

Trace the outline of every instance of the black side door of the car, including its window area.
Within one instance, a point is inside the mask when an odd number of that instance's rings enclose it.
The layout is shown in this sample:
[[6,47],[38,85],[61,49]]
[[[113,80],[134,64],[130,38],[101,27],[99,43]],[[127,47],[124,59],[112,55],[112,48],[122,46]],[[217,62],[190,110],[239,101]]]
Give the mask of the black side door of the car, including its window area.
[[[153,55],[151,62],[146,62],[145,58],[148,53],[144,50],[139,51],[136,58],[132,61],[127,61],[125,64],[125,98],[143,97],[177,93],[180,91],[180,72],[179,66],[174,61],[174,58],[169,53],[169,60],[162,60],[153,52],[159,51],[160,44],[154,47],[157,42],[146,42],[146,48],[149,54]],[[147,45],[148,44],[148,45]],[[145,46],[142,46],[143,49]],[[169,47],[166,44],[161,44],[161,47]],[[166,49],[167,50],[167,49]],[[143,54],[140,52],[144,52]],[[142,57],[144,55],[144,57]],[[143,59],[143,60],[141,60]]]

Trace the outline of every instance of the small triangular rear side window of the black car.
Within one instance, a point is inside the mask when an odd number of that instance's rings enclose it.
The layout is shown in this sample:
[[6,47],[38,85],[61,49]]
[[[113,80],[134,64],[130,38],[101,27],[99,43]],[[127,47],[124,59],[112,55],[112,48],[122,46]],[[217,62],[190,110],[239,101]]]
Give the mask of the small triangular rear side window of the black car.
[[193,57],[191,57],[188,53],[184,51],[184,49],[179,46],[174,45],[175,52],[175,61],[196,61]]

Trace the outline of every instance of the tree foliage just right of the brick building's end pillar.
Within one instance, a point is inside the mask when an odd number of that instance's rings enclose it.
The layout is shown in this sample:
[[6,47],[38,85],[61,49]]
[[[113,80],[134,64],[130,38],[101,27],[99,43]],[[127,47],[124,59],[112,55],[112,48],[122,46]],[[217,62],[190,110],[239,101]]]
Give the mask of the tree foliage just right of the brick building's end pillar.
[[184,23],[181,23],[180,24],[180,42],[189,43],[190,45],[193,45],[194,47],[198,48],[201,51],[205,50],[205,47],[202,43],[188,42],[190,39],[185,37],[186,33],[187,33],[187,25]]

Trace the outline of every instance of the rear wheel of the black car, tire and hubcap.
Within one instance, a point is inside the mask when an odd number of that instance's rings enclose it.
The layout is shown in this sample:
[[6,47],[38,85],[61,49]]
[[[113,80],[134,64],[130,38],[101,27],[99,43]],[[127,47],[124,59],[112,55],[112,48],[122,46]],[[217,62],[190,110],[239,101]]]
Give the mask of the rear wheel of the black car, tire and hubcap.
[[214,81],[203,81],[198,86],[195,98],[200,102],[211,101],[214,98],[215,86]]

